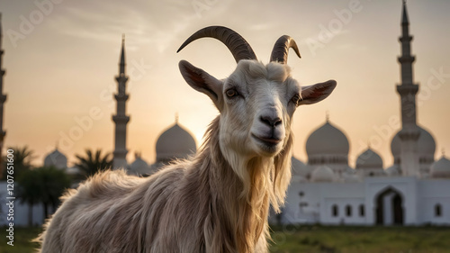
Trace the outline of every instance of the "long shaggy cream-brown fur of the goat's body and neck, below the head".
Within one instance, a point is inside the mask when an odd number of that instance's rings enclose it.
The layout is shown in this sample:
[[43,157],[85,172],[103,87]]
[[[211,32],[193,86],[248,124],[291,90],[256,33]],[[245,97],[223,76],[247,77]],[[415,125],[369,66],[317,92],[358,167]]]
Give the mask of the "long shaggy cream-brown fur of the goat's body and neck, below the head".
[[219,129],[220,116],[195,157],[155,175],[107,171],[67,192],[40,235],[39,252],[267,252],[269,204],[278,210],[284,202],[293,136],[275,157],[233,168]]

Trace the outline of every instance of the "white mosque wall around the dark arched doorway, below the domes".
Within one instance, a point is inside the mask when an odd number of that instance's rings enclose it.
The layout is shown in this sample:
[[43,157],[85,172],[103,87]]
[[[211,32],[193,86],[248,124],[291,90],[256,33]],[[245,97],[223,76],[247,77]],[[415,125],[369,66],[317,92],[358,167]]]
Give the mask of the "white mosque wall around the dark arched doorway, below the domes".
[[[450,224],[450,180],[414,176],[366,177],[362,183],[293,183],[287,192],[282,221],[374,225],[377,198],[390,188],[401,196],[403,224]],[[394,219],[394,195],[386,194],[383,198],[385,225],[391,225]],[[437,204],[440,215],[436,213]],[[337,215],[333,214],[333,205],[338,208]],[[364,205],[364,215],[360,214],[361,205]],[[347,206],[351,208],[351,215],[347,215]]]

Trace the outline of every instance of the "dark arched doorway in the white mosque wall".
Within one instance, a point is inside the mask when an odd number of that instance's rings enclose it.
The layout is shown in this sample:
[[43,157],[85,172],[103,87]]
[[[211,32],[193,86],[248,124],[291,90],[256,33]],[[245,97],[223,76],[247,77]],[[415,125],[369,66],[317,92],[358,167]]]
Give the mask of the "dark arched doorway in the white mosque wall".
[[375,197],[376,224],[403,224],[403,197],[396,189],[389,187]]

